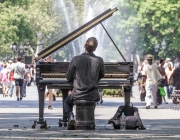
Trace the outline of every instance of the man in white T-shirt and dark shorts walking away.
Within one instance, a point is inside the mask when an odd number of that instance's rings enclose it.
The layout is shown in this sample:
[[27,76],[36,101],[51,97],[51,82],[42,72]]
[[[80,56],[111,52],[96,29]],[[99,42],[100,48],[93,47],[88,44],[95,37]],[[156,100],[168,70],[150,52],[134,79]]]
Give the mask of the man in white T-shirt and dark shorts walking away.
[[22,100],[22,86],[25,75],[25,64],[21,63],[21,56],[17,58],[11,71],[14,71],[17,101]]

